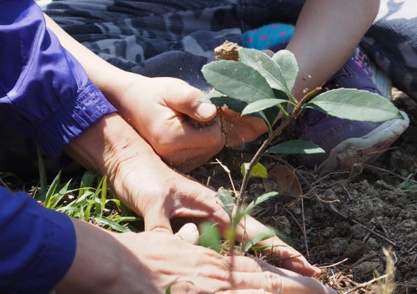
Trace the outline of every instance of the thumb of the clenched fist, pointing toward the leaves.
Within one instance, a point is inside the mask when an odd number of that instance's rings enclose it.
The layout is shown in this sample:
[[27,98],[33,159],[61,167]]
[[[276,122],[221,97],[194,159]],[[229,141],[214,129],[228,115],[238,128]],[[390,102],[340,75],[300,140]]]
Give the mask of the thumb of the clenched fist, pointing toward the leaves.
[[192,86],[173,88],[170,97],[165,98],[168,107],[187,114],[199,122],[208,122],[216,117],[216,106],[207,102],[200,102],[204,93]]

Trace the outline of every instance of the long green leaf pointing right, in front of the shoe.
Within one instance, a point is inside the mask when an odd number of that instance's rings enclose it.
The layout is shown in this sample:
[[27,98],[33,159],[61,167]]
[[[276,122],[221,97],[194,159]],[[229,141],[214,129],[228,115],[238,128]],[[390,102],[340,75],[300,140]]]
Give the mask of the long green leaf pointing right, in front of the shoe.
[[403,119],[397,107],[386,98],[356,89],[329,90],[313,98],[305,107],[341,119],[361,122],[384,122],[390,119]]

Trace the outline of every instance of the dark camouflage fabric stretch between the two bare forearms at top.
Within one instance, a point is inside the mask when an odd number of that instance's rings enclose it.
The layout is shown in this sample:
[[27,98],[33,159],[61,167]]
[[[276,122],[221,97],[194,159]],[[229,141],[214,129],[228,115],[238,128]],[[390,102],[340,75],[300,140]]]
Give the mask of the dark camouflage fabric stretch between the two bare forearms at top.
[[208,88],[201,67],[225,40],[274,21],[295,21],[303,1],[52,1],[44,11],[67,33],[121,69]]

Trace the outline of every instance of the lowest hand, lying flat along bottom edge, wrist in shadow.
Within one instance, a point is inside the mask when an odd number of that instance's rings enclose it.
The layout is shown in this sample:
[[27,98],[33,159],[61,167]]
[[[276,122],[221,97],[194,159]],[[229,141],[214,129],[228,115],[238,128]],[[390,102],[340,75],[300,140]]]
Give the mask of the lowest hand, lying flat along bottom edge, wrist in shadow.
[[[177,235],[116,234],[74,220],[74,262],[57,293],[336,293],[312,278],[259,259],[224,257],[193,245],[196,226]],[[100,254],[95,245],[100,244]]]

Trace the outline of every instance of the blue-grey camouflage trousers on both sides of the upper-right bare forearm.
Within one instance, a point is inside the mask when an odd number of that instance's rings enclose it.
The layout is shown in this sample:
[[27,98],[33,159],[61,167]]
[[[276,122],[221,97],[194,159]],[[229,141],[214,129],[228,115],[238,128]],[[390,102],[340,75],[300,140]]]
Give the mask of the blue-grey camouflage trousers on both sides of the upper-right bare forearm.
[[[44,11],[83,45],[127,71],[206,88],[200,69],[224,40],[273,22],[295,23],[304,0],[49,0]],[[394,86],[417,99],[417,1],[381,0],[363,39]]]

